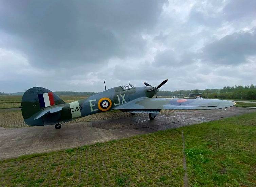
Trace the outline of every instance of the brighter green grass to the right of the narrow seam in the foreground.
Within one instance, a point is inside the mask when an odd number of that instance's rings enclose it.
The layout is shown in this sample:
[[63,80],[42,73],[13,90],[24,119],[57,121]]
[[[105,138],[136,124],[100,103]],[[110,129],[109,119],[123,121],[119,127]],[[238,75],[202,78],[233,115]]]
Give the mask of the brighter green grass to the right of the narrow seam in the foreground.
[[255,186],[256,113],[204,124],[184,131],[191,186]]

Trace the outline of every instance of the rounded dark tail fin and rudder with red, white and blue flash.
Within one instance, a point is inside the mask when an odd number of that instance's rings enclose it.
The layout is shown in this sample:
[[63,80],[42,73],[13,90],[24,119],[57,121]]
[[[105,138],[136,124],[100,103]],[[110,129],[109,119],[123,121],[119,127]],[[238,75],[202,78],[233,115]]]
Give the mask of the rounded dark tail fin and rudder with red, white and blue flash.
[[46,107],[59,104],[65,104],[65,102],[48,89],[42,87],[28,89],[21,100],[21,112],[25,123],[28,125],[44,125],[43,119],[34,120],[35,116]]

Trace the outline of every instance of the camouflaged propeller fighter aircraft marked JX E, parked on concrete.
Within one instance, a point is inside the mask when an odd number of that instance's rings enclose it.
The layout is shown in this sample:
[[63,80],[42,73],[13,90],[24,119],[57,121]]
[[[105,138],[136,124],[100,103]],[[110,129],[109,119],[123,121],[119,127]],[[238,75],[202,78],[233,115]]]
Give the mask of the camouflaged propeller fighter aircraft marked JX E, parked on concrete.
[[107,90],[105,85],[105,91],[72,103],[65,103],[48,89],[33,87],[22,97],[22,116],[28,125],[55,124],[55,128],[60,129],[65,122],[114,109],[130,112],[131,115],[148,113],[149,119],[153,120],[163,109],[205,110],[235,105],[234,102],[218,99],[157,98],[159,88],[167,81],[164,80],[157,87],[144,82],[146,86],[134,87],[128,84]]

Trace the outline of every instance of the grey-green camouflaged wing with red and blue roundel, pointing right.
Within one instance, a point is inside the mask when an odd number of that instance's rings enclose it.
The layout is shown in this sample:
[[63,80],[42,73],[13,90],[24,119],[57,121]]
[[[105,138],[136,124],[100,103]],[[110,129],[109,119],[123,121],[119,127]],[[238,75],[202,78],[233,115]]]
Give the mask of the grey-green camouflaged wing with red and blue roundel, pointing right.
[[179,99],[179,98],[148,98],[141,97],[126,104],[119,105],[114,109],[120,110],[207,110],[231,107],[236,103],[220,99]]

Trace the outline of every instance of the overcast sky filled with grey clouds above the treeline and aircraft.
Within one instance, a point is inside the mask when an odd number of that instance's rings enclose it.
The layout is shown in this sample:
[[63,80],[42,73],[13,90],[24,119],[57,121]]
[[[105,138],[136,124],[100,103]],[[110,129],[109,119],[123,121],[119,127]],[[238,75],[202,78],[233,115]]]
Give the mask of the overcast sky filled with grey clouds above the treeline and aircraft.
[[0,0],[0,92],[256,84],[256,1]]

